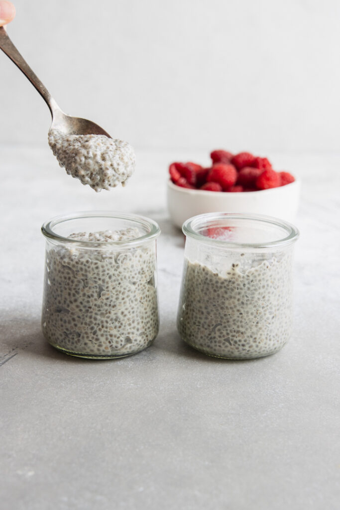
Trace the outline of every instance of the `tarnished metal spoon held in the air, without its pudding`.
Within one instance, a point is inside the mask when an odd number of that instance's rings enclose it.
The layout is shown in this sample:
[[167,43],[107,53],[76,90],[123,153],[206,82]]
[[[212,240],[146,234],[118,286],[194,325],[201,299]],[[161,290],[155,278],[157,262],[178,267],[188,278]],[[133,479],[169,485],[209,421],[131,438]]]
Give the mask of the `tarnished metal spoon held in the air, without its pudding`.
[[52,115],[51,129],[56,129],[66,135],[106,135],[109,133],[104,131],[98,124],[91,120],[81,119],[79,117],[71,117],[66,115],[57,105],[55,99],[50,95],[46,87],[41,83],[37,75],[32,71],[31,67],[22,58],[11,39],[8,37],[6,30],[0,27],[0,48],[14,62],[16,66],[23,72],[32,85],[37,89]]

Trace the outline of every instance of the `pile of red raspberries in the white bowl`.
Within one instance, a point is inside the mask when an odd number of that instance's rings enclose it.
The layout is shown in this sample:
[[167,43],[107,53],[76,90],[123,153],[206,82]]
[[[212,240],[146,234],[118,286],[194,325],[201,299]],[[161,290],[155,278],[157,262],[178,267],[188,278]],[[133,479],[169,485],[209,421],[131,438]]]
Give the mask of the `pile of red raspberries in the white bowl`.
[[295,181],[288,172],[273,170],[267,158],[250,152],[232,155],[227,150],[213,150],[212,166],[204,168],[196,163],[171,163],[171,181],[182,188],[206,191],[259,191],[278,188]]

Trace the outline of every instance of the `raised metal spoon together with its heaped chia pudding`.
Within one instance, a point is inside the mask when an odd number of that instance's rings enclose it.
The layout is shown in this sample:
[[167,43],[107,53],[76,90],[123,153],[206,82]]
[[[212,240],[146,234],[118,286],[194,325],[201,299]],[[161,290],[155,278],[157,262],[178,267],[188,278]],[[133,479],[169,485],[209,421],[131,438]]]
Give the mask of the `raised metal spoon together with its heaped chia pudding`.
[[95,191],[126,183],[135,170],[133,148],[91,120],[66,115],[0,27],[0,48],[37,89],[52,115],[48,143],[59,165]]

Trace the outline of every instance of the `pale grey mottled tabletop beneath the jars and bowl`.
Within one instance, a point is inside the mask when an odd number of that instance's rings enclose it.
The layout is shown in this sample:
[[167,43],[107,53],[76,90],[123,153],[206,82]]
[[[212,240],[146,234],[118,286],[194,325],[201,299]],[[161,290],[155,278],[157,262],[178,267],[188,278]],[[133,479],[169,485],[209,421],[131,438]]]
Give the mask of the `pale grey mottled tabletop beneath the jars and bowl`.
[[[340,156],[270,156],[302,180],[294,333],[272,356],[227,361],[176,331],[184,236],[168,218],[167,165],[205,155],[137,151],[130,183],[96,194],[47,144],[1,147],[3,508],[339,508]],[[160,333],[127,358],[72,358],[41,333],[40,226],[85,210],[140,213],[162,230]]]

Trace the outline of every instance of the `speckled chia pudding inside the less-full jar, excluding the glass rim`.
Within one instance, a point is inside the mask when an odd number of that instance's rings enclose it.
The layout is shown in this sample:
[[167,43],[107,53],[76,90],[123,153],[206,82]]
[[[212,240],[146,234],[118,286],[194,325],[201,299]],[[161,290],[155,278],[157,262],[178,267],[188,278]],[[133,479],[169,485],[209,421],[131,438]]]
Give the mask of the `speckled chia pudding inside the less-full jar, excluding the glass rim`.
[[[247,266],[249,266],[249,261]],[[292,254],[216,272],[185,259],[177,327],[196,349],[229,359],[281,349],[292,324]]]

